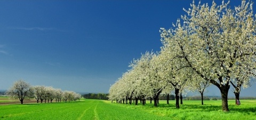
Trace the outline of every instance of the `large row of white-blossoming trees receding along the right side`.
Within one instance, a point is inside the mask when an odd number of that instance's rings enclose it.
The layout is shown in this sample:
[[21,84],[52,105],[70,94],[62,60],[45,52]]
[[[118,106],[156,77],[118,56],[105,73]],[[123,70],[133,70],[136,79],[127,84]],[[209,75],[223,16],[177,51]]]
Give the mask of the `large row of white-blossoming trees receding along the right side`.
[[[173,28],[161,28],[161,51],[146,52],[109,89],[110,100],[154,99],[174,91],[176,107],[184,90],[218,87],[222,111],[228,109],[230,84],[239,100],[241,86],[249,87],[256,74],[256,21],[252,2],[232,10],[229,2],[190,4]],[[199,88],[199,89],[198,89]],[[205,88],[205,87],[203,87]],[[204,90],[204,89],[203,89]],[[201,91],[203,93],[203,91]],[[142,102],[143,103],[143,102]]]

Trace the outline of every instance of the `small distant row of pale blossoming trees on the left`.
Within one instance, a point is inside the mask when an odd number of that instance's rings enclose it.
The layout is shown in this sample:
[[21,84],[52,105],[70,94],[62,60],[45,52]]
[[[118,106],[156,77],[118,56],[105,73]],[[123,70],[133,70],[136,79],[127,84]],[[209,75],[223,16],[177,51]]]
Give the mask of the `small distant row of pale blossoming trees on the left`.
[[39,100],[41,103],[43,101],[46,103],[49,101],[61,102],[61,100],[67,102],[70,100],[79,100],[81,94],[75,93],[73,91],[61,91],[61,89],[54,89],[51,86],[31,86],[29,83],[22,81],[21,79],[14,82],[13,85],[6,91],[6,94],[13,99],[19,99],[21,104],[23,100],[35,98],[37,103]]

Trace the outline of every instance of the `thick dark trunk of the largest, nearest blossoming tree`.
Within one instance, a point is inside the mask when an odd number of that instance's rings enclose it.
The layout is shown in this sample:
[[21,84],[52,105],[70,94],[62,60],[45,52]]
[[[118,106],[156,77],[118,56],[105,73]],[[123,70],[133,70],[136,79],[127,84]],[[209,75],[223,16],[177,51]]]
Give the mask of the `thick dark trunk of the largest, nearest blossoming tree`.
[[222,99],[222,111],[229,111],[228,109],[228,90],[229,90],[229,84],[220,86],[220,93],[221,93],[221,99]]

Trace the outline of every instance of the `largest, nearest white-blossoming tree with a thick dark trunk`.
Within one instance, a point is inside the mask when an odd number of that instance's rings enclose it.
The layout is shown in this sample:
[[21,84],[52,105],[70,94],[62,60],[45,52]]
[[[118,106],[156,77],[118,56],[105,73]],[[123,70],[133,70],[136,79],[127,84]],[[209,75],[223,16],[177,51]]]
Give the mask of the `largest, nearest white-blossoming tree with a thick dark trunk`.
[[[177,58],[185,60],[188,68],[199,76],[217,86],[221,92],[222,111],[228,109],[228,90],[230,81],[238,76],[247,79],[251,74],[237,73],[237,70],[255,69],[255,20],[252,3],[242,1],[241,6],[231,10],[229,2],[217,6],[213,1],[208,4],[191,4],[185,10],[183,25],[180,19],[174,29],[161,28],[161,37],[165,44],[175,49]],[[253,73],[253,72],[249,72]]]

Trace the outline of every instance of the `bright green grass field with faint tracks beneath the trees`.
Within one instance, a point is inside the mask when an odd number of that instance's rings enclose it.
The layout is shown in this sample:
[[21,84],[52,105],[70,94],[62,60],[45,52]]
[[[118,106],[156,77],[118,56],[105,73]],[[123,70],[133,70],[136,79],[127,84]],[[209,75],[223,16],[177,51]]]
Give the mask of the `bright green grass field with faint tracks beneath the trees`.
[[[1,98],[0,98],[1,99]],[[160,101],[126,105],[111,101],[83,99],[58,103],[25,103],[0,105],[0,119],[256,119],[256,100],[242,100],[240,106],[229,101],[229,112],[221,111],[221,101],[183,101],[180,109],[175,102]]]

